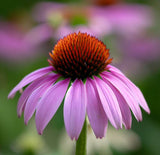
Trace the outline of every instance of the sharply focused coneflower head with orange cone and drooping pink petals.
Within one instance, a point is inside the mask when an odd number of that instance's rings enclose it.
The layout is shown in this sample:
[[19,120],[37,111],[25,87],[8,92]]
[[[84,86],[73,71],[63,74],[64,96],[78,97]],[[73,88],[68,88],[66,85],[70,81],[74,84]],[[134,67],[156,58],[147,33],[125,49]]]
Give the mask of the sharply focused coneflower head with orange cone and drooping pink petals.
[[[116,128],[131,128],[131,111],[142,120],[140,106],[150,110],[139,90],[120,70],[110,65],[109,49],[87,33],[73,33],[60,39],[50,53],[49,67],[22,79],[10,92],[30,84],[18,101],[18,116],[25,124],[34,112],[39,134],[64,99],[64,122],[71,139],[78,139],[85,116],[97,138],[105,136],[108,121]],[[130,111],[131,110],[131,111]]]

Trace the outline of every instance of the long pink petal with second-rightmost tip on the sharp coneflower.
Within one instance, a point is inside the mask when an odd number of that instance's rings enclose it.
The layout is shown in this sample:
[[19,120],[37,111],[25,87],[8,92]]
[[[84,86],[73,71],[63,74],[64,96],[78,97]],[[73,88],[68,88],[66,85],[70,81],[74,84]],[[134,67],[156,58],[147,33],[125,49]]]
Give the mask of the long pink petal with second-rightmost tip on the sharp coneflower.
[[131,108],[136,119],[138,121],[141,121],[142,120],[141,109],[138,105],[138,102],[135,99],[135,96],[132,95],[128,87],[121,80],[113,76],[112,73],[103,72],[103,74],[104,74],[103,76],[104,80],[108,80],[118,89],[118,91],[121,93],[121,95],[126,100],[128,106]]

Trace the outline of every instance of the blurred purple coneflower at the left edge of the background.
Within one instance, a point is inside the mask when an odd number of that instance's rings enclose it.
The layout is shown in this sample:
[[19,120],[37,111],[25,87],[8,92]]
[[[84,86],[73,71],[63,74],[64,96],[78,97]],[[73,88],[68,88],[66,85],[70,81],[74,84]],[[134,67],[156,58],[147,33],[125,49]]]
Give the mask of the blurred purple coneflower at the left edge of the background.
[[46,24],[21,32],[15,24],[1,21],[0,59],[15,63],[30,59],[40,51],[40,44],[51,37],[51,32]]

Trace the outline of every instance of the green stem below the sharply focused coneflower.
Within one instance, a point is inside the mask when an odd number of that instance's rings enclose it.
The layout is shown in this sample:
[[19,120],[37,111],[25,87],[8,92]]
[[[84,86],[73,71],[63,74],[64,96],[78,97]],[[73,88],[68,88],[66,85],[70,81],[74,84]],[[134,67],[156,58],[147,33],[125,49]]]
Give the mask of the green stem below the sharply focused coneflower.
[[86,155],[87,154],[86,144],[87,144],[87,121],[85,119],[83,129],[76,142],[76,155]]

